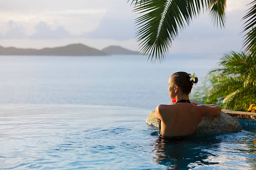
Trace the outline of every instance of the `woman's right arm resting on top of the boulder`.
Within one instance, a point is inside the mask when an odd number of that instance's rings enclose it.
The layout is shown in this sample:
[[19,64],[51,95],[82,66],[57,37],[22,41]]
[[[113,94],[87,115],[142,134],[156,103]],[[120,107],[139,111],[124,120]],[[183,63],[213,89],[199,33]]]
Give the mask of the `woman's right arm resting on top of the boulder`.
[[221,108],[218,105],[198,105],[201,108],[203,116],[218,116],[220,115]]

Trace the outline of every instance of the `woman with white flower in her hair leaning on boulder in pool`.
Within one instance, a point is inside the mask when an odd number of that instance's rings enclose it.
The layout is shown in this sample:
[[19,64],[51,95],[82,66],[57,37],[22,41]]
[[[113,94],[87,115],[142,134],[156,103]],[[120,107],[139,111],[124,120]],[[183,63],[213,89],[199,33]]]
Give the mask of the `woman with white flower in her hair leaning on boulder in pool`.
[[198,79],[195,74],[175,72],[169,78],[169,95],[176,99],[174,105],[158,105],[155,117],[160,119],[160,136],[184,136],[195,132],[205,116],[217,116],[221,112],[218,105],[200,105],[189,101],[189,93]]

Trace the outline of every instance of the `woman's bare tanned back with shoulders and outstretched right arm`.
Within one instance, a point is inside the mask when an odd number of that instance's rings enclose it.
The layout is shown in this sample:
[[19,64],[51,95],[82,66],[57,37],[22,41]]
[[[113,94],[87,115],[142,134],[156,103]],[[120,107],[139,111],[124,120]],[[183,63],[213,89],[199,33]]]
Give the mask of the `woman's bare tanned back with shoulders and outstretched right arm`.
[[[197,125],[204,116],[220,114],[220,109],[217,107],[213,107],[213,105],[195,105],[192,103],[158,105],[155,117],[161,120],[161,127],[159,128],[161,128],[162,136],[190,135],[195,132]],[[212,111],[209,112],[208,110]]]

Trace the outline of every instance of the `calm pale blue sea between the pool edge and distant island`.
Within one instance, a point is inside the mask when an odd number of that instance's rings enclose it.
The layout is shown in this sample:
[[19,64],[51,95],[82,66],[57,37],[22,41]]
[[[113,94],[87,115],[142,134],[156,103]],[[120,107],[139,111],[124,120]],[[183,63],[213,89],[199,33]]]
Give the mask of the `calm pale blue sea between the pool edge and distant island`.
[[152,64],[142,55],[1,56],[0,103],[114,105],[154,109],[169,103],[172,73],[202,77],[217,55],[168,55]]

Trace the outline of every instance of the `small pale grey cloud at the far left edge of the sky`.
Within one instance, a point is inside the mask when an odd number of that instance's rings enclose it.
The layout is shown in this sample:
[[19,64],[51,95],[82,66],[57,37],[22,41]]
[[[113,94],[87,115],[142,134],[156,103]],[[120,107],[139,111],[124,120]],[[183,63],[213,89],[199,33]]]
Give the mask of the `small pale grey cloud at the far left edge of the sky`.
[[20,39],[25,38],[25,28],[22,25],[16,24],[13,20],[9,20],[7,24],[8,30],[2,36],[6,39]]

